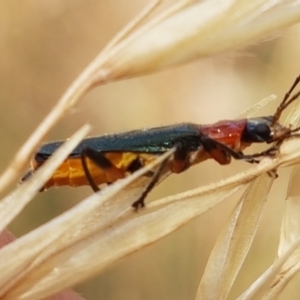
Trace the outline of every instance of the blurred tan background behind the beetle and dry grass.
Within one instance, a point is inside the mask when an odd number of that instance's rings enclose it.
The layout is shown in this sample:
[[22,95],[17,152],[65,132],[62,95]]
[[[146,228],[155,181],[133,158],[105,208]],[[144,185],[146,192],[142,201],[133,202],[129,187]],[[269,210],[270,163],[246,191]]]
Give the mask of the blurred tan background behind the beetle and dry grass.
[[[0,2],[1,170],[71,82],[147,3]],[[294,26],[276,39],[213,59],[96,88],[56,126],[48,140],[65,139],[85,122],[93,125],[91,135],[184,121],[213,123],[235,118],[270,94],[281,99],[300,73],[299,29]],[[262,113],[272,114],[275,107],[270,105]],[[185,191],[248,167],[243,162],[226,167],[205,162],[171,176],[150,198]],[[279,171],[232,298],[276,256],[287,174],[286,170]],[[41,193],[10,229],[16,236],[23,235],[90,193],[88,187]],[[76,290],[90,300],[194,299],[209,253],[237,198],[228,199]],[[299,278],[292,281],[282,299],[298,299],[298,285]]]

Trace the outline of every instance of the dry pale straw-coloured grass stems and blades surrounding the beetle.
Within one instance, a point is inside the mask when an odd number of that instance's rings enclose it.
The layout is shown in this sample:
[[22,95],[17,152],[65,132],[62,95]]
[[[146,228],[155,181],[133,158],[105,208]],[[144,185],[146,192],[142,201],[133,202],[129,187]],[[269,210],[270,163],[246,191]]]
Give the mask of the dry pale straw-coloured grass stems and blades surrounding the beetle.
[[[296,0],[178,1],[151,18],[159,2],[151,4],[74,81],[3,173],[2,190],[20,177],[40,141],[93,87],[237,49],[300,20],[300,1]],[[145,17],[147,20],[143,20]],[[296,113],[289,117],[289,123],[295,124]],[[87,130],[84,127],[79,131],[36,176],[3,199],[1,230],[20,213]],[[130,205],[150,180],[140,176],[172,155],[172,151],[166,153],[148,168],[91,195],[3,248],[1,299],[41,299],[72,287],[244,189],[211,253],[197,293],[197,299],[226,299],[248,253],[273,182],[266,172],[282,165],[297,165],[299,143],[298,138],[288,140],[273,159],[265,158],[243,173],[152,202],[139,213],[134,212]],[[288,189],[278,259],[240,299],[274,299],[298,272],[297,169],[292,172]]]

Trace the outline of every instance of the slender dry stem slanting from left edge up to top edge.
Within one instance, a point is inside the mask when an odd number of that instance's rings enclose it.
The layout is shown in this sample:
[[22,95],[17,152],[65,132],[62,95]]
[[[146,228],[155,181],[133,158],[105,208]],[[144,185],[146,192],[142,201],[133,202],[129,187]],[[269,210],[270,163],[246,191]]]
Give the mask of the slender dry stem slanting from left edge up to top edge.
[[[45,117],[42,123],[16,153],[11,163],[0,177],[0,193],[2,193],[11,182],[20,176],[20,173],[24,169],[25,164],[29,161],[34,150],[38,147],[38,145],[54,127],[54,125],[64,116],[64,114],[70,108],[72,108],[91,88],[93,88],[95,85],[100,85],[101,83],[105,82],[107,76],[105,72],[101,72],[101,65],[111,55],[109,50],[113,46],[116,46],[116,44],[122,38],[131,32],[135,26],[159,3],[160,1],[152,3],[139,17],[132,21],[128,27],[121,31],[121,33],[108,45],[106,50],[100,53],[67,89],[65,94],[53,107],[50,113]],[[112,51],[112,53],[114,53],[114,51]]]

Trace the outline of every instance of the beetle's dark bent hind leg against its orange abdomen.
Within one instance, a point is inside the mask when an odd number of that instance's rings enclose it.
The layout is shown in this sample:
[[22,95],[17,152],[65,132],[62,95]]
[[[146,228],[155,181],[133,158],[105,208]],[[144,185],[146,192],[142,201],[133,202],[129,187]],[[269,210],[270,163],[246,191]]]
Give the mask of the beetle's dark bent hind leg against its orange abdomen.
[[89,158],[92,162],[94,162],[100,169],[105,171],[106,173],[111,174],[116,179],[120,179],[124,177],[124,173],[122,170],[117,168],[108,158],[105,157],[101,152],[96,151],[92,148],[85,148],[81,153],[81,161],[82,167],[84,169],[85,176],[93,189],[94,192],[98,192],[100,189],[95,183],[93,176],[88,168],[86,158]]

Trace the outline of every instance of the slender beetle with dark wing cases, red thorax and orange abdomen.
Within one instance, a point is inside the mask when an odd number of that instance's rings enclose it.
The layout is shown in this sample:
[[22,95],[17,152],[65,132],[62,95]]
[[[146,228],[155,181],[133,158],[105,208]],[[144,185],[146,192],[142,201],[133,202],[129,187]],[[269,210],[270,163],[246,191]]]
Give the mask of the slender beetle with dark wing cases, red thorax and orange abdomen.
[[[42,190],[52,186],[90,185],[97,192],[98,185],[124,178],[175,148],[173,157],[150,174],[152,180],[149,186],[132,204],[137,210],[144,206],[145,197],[165,172],[181,173],[209,158],[221,165],[229,164],[231,158],[257,163],[256,158],[274,155],[282,141],[298,130],[281,125],[279,118],[283,110],[299,97],[300,92],[291,95],[299,82],[300,75],[273,116],[223,120],[208,125],[181,123],[86,138],[54,172]],[[42,145],[31,161],[31,169],[21,182],[30,178],[62,143],[57,141]],[[266,151],[245,155],[243,150],[252,143],[275,145]]]

